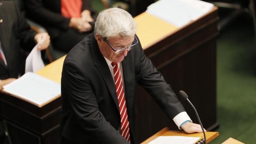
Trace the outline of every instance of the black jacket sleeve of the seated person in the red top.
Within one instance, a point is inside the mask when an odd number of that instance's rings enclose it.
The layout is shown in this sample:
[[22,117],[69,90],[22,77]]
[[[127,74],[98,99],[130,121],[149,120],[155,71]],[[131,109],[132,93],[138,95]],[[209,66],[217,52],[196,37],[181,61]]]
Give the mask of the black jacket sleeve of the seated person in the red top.
[[70,18],[65,18],[61,13],[56,13],[43,6],[42,0],[25,0],[28,15],[39,24],[58,27],[64,30],[69,28]]

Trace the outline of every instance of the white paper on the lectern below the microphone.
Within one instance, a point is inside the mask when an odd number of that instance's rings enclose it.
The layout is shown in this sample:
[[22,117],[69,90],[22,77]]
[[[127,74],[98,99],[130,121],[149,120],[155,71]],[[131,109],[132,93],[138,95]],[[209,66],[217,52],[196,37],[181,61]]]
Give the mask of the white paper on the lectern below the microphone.
[[200,137],[160,136],[148,144],[194,144]]

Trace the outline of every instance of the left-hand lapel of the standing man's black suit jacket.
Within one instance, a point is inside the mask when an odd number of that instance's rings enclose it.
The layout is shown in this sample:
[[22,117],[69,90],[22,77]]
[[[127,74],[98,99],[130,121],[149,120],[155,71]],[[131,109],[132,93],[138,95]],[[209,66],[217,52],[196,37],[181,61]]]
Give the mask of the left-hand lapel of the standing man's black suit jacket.
[[100,74],[102,75],[102,78],[104,79],[108,90],[117,106],[117,109],[119,111],[119,104],[117,100],[117,93],[115,90],[115,83],[113,81],[111,72],[109,70],[108,64],[106,60],[104,59],[103,55],[100,53],[100,49],[98,48],[97,41],[95,40],[94,36],[91,37],[91,52],[94,59],[94,64],[96,68],[99,70]]

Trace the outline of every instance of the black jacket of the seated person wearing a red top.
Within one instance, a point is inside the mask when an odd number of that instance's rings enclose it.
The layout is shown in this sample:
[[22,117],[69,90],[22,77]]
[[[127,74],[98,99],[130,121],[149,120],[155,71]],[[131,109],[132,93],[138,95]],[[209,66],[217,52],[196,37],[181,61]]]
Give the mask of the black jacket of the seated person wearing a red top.
[[[91,11],[91,0],[82,1],[82,11]],[[59,30],[69,28],[70,18],[61,15],[61,0],[25,0],[25,4],[28,17],[44,26],[51,39],[58,37]]]

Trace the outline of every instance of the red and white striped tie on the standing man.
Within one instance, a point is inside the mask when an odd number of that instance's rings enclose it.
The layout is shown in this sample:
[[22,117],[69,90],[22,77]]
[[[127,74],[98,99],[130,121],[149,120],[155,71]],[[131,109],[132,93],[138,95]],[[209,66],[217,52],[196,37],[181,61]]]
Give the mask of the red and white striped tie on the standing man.
[[126,102],[124,97],[124,89],[122,86],[122,78],[120,69],[117,63],[111,63],[114,70],[114,78],[115,78],[115,89],[117,92],[117,99],[119,103],[119,110],[121,116],[121,134],[128,142],[130,142],[130,128],[129,128],[129,120],[126,109]]

